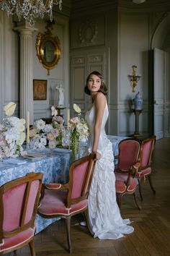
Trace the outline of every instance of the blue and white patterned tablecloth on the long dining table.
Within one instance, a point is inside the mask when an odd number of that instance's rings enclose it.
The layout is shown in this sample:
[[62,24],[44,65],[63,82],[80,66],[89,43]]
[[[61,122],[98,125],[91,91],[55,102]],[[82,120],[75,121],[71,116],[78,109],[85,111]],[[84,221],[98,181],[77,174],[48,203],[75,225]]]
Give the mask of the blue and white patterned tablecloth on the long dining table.
[[[117,155],[118,144],[120,140],[125,137],[108,136],[108,138],[112,141],[114,155]],[[0,186],[12,179],[25,176],[27,173],[32,171],[43,173],[43,183],[68,182],[68,169],[72,158],[71,150],[63,148],[50,150],[49,148],[45,148],[44,150],[36,150],[36,152],[44,153],[45,157],[34,161],[30,161],[25,158],[14,158],[13,162],[9,162],[8,159],[2,162],[0,161]],[[10,158],[10,160],[12,160],[12,158]],[[56,220],[57,218],[45,219],[37,215],[36,233],[42,231],[42,229],[45,229],[45,227],[49,226],[50,223],[53,223]]]

